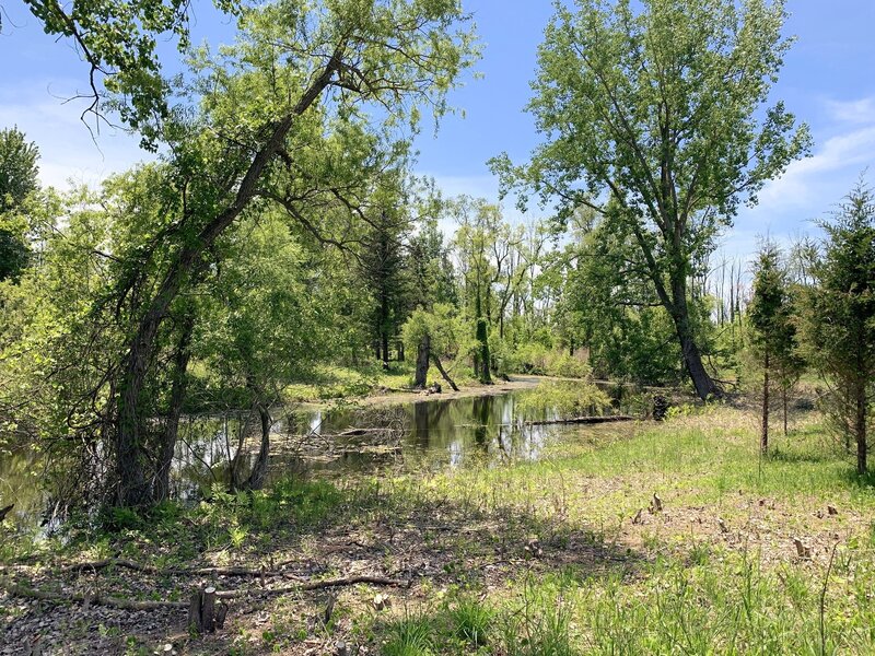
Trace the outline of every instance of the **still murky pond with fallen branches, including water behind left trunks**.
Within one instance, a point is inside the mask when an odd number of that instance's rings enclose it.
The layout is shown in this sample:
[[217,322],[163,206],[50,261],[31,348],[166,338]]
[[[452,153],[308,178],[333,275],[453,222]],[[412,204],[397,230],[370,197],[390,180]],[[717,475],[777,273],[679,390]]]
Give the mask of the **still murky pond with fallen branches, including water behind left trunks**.
[[[556,419],[556,413],[524,412],[523,393],[495,391],[450,399],[434,395],[395,405],[275,409],[269,478],[438,471],[470,462],[500,466],[536,460],[547,446],[562,440],[597,440],[600,433],[628,430],[616,424],[532,423]],[[359,429],[360,434],[343,434],[350,429]],[[237,414],[185,418],[172,471],[175,496],[192,501],[210,485],[224,484],[241,433],[247,436],[245,456],[254,459],[258,436],[250,419]],[[39,455],[24,449],[0,461],[0,507],[14,503],[12,517],[20,526],[34,526],[44,512],[39,465]]]

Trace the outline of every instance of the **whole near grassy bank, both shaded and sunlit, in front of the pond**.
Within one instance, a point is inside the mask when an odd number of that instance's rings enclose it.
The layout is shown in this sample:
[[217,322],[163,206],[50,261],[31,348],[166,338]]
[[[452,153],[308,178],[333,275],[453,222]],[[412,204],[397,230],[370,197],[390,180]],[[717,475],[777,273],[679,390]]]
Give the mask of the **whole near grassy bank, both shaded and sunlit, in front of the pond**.
[[[9,598],[1,621],[14,633],[48,618],[79,653],[151,654],[168,643],[185,654],[315,654],[340,641],[349,653],[396,656],[870,654],[873,481],[852,473],[816,415],[793,419],[765,458],[752,412],[711,408],[658,425],[582,429],[538,462],[438,475],[400,467],[340,487],[217,490],[189,509],[107,516],[63,543],[28,552],[7,542],[18,563],[7,582],[184,600],[208,581],[252,596],[232,601],[225,628],[207,637],[190,636],[178,610],[145,630],[107,616],[95,633],[78,606]],[[60,571],[106,557],[160,572]],[[205,565],[268,574],[182,572]],[[404,585],[264,594],[362,573]]]

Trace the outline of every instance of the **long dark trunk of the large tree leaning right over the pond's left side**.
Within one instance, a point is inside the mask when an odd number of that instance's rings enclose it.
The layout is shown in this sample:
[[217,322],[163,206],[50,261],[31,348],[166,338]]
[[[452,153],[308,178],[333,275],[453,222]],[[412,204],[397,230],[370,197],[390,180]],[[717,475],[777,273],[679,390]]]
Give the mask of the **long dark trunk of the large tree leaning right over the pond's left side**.
[[225,229],[234,223],[255,197],[258,180],[282,148],[295,118],[303,114],[328,86],[339,65],[339,55],[331,57],[325,70],[303,93],[292,110],[276,124],[270,138],[253,157],[231,206],[209,221],[197,238],[191,239],[179,249],[164,274],[158,293],[147,303],[145,313],[130,340],[122,365],[115,444],[115,475],[118,485],[116,503],[118,505],[138,506],[149,503],[151,499],[151,485],[145,477],[149,454],[144,452],[142,444],[144,418],[140,401],[147,373],[154,356],[155,338],[161,324],[167,316],[171,303],[178,295],[198,259]]

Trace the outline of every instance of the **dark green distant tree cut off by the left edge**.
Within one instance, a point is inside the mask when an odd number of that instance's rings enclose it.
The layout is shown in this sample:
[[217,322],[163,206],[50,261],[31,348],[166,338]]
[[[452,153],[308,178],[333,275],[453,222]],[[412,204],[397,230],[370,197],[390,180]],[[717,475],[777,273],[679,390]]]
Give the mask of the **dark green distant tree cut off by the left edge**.
[[[26,222],[13,214],[38,188],[39,150],[18,128],[0,130],[0,281],[15,280],[27,266]],[[19,220],[16,220],[19,219]]]

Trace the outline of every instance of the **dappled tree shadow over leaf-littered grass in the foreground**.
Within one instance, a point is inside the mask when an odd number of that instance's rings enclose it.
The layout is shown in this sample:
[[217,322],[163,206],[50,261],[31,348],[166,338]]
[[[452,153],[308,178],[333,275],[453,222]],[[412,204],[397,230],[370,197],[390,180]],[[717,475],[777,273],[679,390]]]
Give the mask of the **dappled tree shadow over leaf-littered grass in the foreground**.
[[[55,554],[59,560],[84,560],[84,552],[93,552],[100,546],[103,553],[159,570],[107,567],[83,574],[56,571],[51,585],[62,582],[73,591],[89,589],[94,577],[100,577],[102,594],[173,600],[186,599],[194,587],[209,583],[220,591],[231,591],[261,590],[264,585],[284,587],[299,578],[318,581],[363,574],[404,581],[407,585],[399,587],[340,588],[349,590],[347,599],[365,605],[355,607],[355,617],[373,617],[375,621],[390,623],[394,620],[388,616],[397,617],[397,612],[373,613],[371,600],[376,591],[390,595],[398,611],[425,606],[443,609],[440,617],[429,620],[436,632],[429,629],[422,634],[416,622],[384,626],[382,633],[397,637],[397,654],[424,653],[416,651],[422,646],[417,641],[421,637],[427,644],[444,629],[452,630],[455,637],[451,642],[477,645],[489,617],[480,613],[470,599],[459,601],[462,595],[476,597],[528,579],[562,578],[576,588],[594,577],[622,578],[644,564],[639,553],[612,547],[590,527],[544,509],[536,513],[523,506],[478,505],[465,501],[464,491],[451,488],[436,492],[422,480],[380,479],[346,488],[327,481],[283,480],[269,490],[248,494],[215,489],[209,502],[194,507],[162,504],[148,514],[126,512],[103,526],[70,530],[66,552]],[[265,583],[258,577],[183,572],[215,564],[249,571],[281,570],[282,575],[273,575]],[[37,587],[47,585],[39,579],[33,583]],[[441,606],[438,590],[450,590],[452,607]],[[254,651],[247,647],[247,654],[267,654],[277,645],[300,646],[305,639],[308,643],[328,641],[323,646],[329,648],[334,644],[329,632],[316,631],[312,624],[322,622],[313,618],[323,617],[337,594],[337,588],[298,589],[291,595],[256,596],[247,606],[232,605],[230,629],[189,640],[186,653],[229,653],[248,630],[269,634],[273,642],[259,644]],[[119,631],[139,634],[142,644],[153,644],[164,642],[171,634],[178,635],[185,621],[184,611],[168,612],[154,624],[151,634],[144,635],[138,619],[131,616],[119,620]],[[77,648],[94,653],[89,640],[83,639]]]

